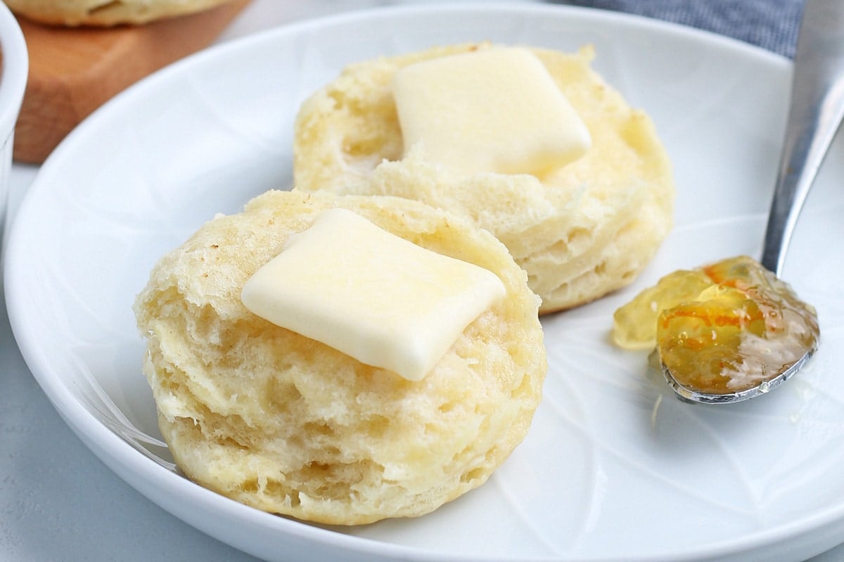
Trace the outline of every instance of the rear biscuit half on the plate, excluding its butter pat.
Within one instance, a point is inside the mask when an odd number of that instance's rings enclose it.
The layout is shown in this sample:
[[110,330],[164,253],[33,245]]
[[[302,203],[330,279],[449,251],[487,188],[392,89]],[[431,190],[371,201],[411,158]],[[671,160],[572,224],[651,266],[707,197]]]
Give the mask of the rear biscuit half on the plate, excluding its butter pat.
[[344,69],[300,107],[296,188],[398,195],[472,217],[527,271],[540,313],[629,284],[672,227],[674,177],[652,120],[592,70],[591,47],[574,54],[532,49],[592,136],[576,162],[540,181],[528,174],[456,177],[413,151],[403,158],[393,75],[413,62],[489,46],[437,47]]

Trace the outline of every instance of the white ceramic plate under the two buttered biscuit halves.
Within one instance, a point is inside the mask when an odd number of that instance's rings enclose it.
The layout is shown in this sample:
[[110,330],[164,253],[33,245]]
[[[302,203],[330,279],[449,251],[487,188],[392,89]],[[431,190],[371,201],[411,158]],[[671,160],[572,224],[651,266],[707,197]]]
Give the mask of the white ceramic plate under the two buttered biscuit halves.
[[[527,440],[488,484],[430,516],[315,527],[171,472],[130,308],[154,261],[215,212],[289,185],[295,111],[346,63],[466,40],[596,45],[595,67],[653,116],[676,166],[677,226],[656,260],[628,290],[544,320],[549,376]],[[353,13],[224,45],[118,96],[43,166],[8,240],[14,335],[117,474],[265,559],[803,559],[844,541],[841,142],[785,273],[823,330],[798,377],[746,404],[691,406],[644,354],[607,341],[614,308],[658,276],[758,254],[789,68],[690,29],[539,5]]]

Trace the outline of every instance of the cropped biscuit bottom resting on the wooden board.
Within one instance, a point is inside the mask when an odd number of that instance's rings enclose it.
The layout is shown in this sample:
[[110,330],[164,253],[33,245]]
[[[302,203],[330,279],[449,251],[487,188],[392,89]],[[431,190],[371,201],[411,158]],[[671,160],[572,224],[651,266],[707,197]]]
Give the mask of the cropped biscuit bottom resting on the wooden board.
[[6,0],[9,9],[42,24],[146,24],[201,12],[230,0]]

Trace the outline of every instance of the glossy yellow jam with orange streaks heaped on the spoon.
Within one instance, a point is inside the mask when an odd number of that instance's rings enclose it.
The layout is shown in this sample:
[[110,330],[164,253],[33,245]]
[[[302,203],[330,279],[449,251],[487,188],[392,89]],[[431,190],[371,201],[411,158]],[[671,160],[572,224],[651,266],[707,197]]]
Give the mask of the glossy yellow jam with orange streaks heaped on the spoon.
[[681,386],[707,394],[770,381],[819,336],[814,308],[747,256],[674,271],[619,308],[613,327],[617,345],[656,346]]

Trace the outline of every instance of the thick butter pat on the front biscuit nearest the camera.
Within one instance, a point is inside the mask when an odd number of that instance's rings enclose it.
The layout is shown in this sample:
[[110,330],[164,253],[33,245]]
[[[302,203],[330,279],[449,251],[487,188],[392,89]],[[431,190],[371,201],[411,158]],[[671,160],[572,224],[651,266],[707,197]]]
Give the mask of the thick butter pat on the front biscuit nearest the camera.
[[504,294],[489,270],[331,209],[246,281],[241,301],[273,324],[415,381]]

